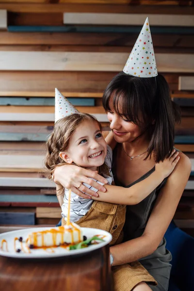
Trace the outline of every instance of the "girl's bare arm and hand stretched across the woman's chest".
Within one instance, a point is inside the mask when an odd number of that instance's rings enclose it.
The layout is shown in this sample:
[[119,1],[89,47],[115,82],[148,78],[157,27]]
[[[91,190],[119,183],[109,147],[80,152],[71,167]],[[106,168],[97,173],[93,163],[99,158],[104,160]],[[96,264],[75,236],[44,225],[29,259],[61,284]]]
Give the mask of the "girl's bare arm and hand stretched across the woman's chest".
[[165,159],[164,162],[156,164],[155,171],[146,179],[134,184],[129,188],[106,185],[106,193],[98,191],[98,197],[94,200],[103,202],[110,202],[115,204],[135,205],[145,199],[164,178],[168,177],[178,163],[179,152],[173,150],[170,158]]

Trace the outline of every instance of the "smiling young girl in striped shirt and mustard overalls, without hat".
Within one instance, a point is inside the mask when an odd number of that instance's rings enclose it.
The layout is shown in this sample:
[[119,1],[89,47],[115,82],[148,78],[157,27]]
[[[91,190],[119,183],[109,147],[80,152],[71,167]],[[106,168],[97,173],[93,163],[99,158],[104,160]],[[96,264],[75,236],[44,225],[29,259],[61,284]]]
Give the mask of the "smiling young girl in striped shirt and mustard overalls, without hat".
[[[64,102],[67,104],[68,101]],[[62,109],[61,103],[60,110]],[[67,107],[67,105],[65,106]],[[68,110],[66,113],[69,114]],[[62,114],[65,115],[63,111]],[[110,232],[113,236],[111,245],[123,240],[122,228],[125,223],[126,205],[141,202],[173,171],[178,162],[178,153],[173,151],[169,159],[156,164],[155,172],[144,181],[130,188],[111,185],[113,182],[112,149],[106,145],[100,123],[95,117],[86,113],[73,113],[59,119],[49,137],[47,146],[46,166],[50,171],[50,176],[56,166],[74,163],[93,171],[98,170],[99,174],[107,178],[109,184],[106,185],[107,191],[103,196],[95,197],[94,199],[97,200],[95,202],[71,193],[70,217],[71,221],[81,227],[100,228]],[[85,186],[90,187],[87,183]],[[93,190],[97,192],[97,189]],[[64,189],[57,187],[57,193],[58,195],[64,193]],[[58,197],[62,197],[62,195]],[[63,225],[65,225],[67,216],[67,201],[68,190],[65,189],[64,200],[63,197],[59,198],[62,206]],[[135,291],[148,291],[150,288],[142,282],[156,284],[153,277],[139,262],[115,266],[112,269],[115,291],[129,291],[135,286],[133,289]],[[139,285],[140,283],[141,285]]]

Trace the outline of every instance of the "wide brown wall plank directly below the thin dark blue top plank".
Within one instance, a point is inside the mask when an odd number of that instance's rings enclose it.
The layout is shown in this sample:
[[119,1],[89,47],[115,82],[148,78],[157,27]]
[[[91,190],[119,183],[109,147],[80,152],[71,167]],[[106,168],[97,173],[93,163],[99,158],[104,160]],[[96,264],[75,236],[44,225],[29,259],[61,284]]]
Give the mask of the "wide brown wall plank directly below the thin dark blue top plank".
[[[169,29],[169,28],[168,28]],[[141,28],[140,28],[141,30]],[[140,32],[139,30],[139,32]],[[193,30],[193,28],[192,28]],[[159,34],[156,33],[154,34],[152,31],[152,40],[154,43],[154,48],[171,48],[173,49],[192,49],[194,45],[194,39],[193,39],[193,34],[190,32],[190,34],[187,33],[187,29],[184,28],[184,31],[186,31],[184,34],[179,34],[180,32],[176,34],[168,34],[167,32]],[[47,32],[5,32],[1,31],[0,32],[0,45],[3,48],[3,45],[9,46],[11,49],[11,46],[14,46],[17,48],[16,44],[19,44],[20,49],[24,48],[25,45],[30,48],[30,46],[39,46],[38,50],[48,49],[48,45],[51,46],[52,48],[61,48],[63,49],[63,46],[66,46],[66,49],[68,46],[74,46],[74,47],[88,47],[92,46],[93,48],[96,46],[103,46],[107,48],[111,48],[113,46],[116,47],[126,47],[126,48],[133,48],[134,42],[137,39],[137,36],[139,34],[135,33],[108,33],[108,32],[103,32],[103,33],[89,33],[89,32],[68,32],[65,34],[64,33],[47,33]],[[10,50],[9,49],[9,50]],[[20,50],[19,49],[19,50]],[[7,49],[1,49],[1,50],[7,50]],[[17,49],[14,49],[17,50]],[[22,49],[25,50],[25,49]],[[27,49],[29,50],[29,49]],[[31,49],[33,50],[33,49]],[[60,50],[60,49],[59,49]],[[63,49],[64,50],[64,49]],[[128,50],[130,51],[130,49]],[[157,51],[155,51],[157,52]],[[60,89],[60,88],[59,88]]]

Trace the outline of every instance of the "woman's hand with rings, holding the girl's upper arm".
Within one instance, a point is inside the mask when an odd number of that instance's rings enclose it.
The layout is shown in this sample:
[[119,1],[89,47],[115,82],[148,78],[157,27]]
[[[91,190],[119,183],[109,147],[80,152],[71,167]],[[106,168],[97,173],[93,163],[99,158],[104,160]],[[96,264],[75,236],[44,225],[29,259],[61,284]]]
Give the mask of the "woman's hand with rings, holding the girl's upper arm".
[[71,189],[82,198],[90,199],[91,196],[98,197],[96,192],[85,187],[82,183],[89,184],[101,192],[106,192],[106,188],[91,178],[107,184],[107,180],[98,175],[97,171],[86,170],[76,165],[59,166],[54,170],[54,182],[56,184],[61,184],[67,189]]

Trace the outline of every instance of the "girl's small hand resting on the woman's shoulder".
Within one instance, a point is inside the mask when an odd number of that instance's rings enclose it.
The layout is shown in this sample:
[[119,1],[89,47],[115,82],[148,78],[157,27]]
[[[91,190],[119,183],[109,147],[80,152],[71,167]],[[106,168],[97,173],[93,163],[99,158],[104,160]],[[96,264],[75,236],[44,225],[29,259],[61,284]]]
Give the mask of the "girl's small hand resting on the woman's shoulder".
[[155,170],[159,173],[163,173],[164,178],[168,177],[172,173],[180,159],[180,157],[178,157],[178,154],[179,152],[173,149],[169,158],[165,159],[163,162],[159,162],[156,164]]

